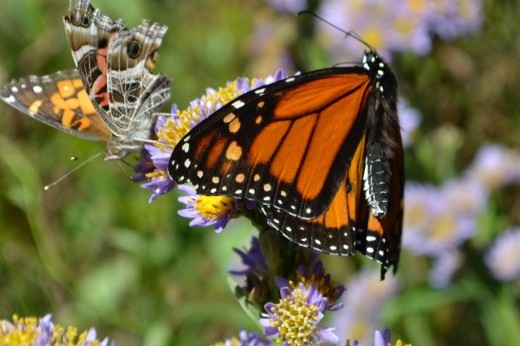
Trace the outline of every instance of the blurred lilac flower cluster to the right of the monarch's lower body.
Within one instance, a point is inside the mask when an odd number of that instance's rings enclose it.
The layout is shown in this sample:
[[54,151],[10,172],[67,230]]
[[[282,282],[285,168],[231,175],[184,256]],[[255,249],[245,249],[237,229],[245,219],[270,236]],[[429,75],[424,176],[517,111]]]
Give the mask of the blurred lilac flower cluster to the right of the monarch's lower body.
[[[464,259],[457,248],[475,234],[491,192],[519,182],[520,153],[493,144],[483,146],[458,178],[440,186],[406,184],[403,247],[433,259],[429,278],[433,287],[446,287],[462,265]],[[501,242],[497,241],[496,248],[500,248],[498,244]],[[491,258],[507,251],[491,252],[494,255],[487,257],[488,266],[497,272],[497,278],[503,278],[499,266],[491,264],[501,261]]]

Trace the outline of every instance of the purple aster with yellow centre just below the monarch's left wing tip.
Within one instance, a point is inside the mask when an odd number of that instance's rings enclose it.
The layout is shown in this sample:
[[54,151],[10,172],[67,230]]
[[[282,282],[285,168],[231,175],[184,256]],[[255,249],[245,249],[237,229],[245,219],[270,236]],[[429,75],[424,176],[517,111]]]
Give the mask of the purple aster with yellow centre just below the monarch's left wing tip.
[[236,208],[236,202],[232,197],[201,196],[189,185],[180,185],[179,190],[187,196],[179,197],[186,209],[179,210],[178,213],[182,217],[192,219],[190,226],[214,226],[216,233],[224,230]]

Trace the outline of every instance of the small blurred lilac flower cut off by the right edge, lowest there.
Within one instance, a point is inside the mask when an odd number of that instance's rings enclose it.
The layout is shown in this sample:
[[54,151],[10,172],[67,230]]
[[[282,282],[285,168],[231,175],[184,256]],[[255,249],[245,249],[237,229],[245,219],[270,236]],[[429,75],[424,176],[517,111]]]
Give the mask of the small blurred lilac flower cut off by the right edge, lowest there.
[[484,257],[491,274],[500,281],[520,278],[520,227],[514,227],[494,241]]

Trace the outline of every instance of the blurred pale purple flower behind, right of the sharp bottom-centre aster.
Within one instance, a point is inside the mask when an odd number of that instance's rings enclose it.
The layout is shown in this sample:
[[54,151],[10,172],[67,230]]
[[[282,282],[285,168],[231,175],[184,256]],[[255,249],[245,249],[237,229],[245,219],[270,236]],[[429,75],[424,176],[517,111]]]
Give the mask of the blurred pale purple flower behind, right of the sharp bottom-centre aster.
[[341,332],[339,344],[345,345],[349,339],[371,344],[373,331],[380,324],[379,312],[398,292],[397,279],[388,277],[381,281],[376,268],[365,268],[351,277],[341,298],[345,308],[334,314],[332,322],[335,330]]

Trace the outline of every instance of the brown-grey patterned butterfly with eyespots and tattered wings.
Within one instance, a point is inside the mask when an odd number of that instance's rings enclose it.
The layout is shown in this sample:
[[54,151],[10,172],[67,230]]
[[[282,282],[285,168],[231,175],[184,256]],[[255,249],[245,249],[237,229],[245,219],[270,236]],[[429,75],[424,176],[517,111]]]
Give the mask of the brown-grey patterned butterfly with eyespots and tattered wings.
[[143,21],[128,29],[89,0],[71,1],[64,23],[77,70],[21,78],[0,98],[64,132],[105,141],[105,160],[121,159],[148,140],[154,112],[170,97],[170,80],[152,73],[167,27]]

